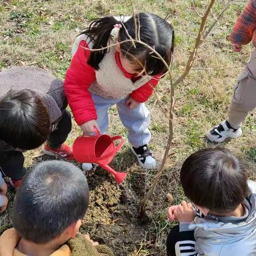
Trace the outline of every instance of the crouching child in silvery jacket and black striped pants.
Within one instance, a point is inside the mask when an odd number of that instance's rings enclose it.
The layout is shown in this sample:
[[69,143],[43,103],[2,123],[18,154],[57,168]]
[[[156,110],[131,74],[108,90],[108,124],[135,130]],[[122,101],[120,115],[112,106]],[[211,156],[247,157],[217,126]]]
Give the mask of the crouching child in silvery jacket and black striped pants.
[[256,183],[246,180],[235,155],[199,150],[183,163],[180,180],[194,206],[169,208],[180,225],[167,238],[167,255],[256,255]]

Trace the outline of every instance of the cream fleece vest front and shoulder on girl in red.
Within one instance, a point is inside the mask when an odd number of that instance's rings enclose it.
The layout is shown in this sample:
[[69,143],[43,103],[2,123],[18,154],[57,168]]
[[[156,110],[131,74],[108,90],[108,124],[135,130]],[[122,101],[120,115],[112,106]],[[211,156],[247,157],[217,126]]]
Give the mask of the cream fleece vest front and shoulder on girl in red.
[[[72,46],[71,53],[73,56],[81,41],[85,41],[90,48],[92,47],[93,43],[90,42],[89,38],[86,35],[80,35]],[[111,47],[109,52],[104,55],[99,64],[99,70],[95,70],[95,74],[96,81],[91,84],[89,91],[106,99],[124,99],[151,79],[150,76],[146,75],[133,83],[130,78],[125,77],[116,63],[115,47]]]

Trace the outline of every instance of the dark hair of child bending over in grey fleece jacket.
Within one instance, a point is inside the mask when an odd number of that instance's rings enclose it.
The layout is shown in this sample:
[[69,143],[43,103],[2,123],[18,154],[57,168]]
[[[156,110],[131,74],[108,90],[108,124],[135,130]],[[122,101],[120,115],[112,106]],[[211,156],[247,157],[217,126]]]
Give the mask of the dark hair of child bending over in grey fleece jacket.
[[13,147],[34,149],[50,135],[48,110],[34,91],[7,92],[0,99],[0,116],[0,139]]

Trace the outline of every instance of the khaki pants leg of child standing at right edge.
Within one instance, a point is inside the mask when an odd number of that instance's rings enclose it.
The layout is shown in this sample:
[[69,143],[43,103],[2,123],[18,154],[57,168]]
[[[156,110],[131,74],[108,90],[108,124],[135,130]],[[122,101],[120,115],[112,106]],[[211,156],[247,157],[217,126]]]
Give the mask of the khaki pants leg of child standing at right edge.
[[228,122],[238,129],[250,111],[256,107],[256,50],[234,86],[228,108]]

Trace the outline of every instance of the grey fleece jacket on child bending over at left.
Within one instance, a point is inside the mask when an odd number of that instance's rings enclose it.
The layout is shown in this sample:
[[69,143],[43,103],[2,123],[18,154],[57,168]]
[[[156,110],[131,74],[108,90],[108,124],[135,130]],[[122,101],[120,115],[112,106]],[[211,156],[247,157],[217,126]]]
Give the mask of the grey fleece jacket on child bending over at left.
[[[15,67],[0,72],[0,100],[10,90],[23,89],[33,90],[41,97],[49,110],[52,124],[59,120],[67,106],[60,79],[36,67]],[[13,149],[0,140],[0,151]]]

